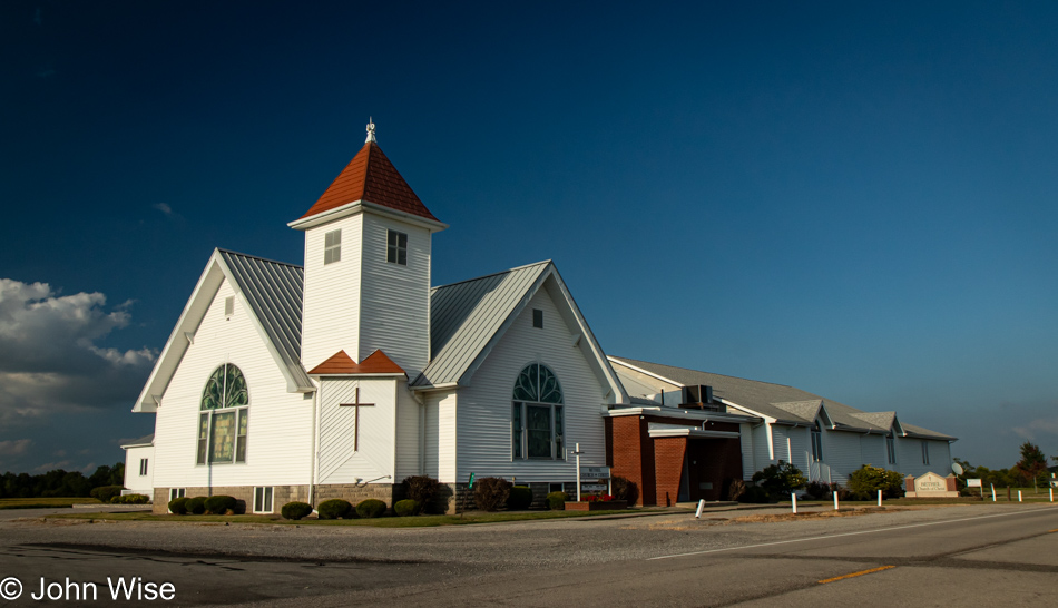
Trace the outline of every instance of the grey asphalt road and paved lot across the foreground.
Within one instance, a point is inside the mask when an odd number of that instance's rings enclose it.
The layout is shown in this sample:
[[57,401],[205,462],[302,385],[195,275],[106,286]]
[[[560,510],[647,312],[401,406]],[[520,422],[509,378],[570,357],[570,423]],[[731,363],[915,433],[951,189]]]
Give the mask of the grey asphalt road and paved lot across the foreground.
[[[9,519],[0,579],[23,595],[0,606],[49,604],[30,597],[41,577],[97,584],[98,601],[50,602],[70,606],[1058,606],[1058,506],[733,521],[748,514],[425,529]],[[170,582],[176,598],[114,602],[106,578],[120,576]]]

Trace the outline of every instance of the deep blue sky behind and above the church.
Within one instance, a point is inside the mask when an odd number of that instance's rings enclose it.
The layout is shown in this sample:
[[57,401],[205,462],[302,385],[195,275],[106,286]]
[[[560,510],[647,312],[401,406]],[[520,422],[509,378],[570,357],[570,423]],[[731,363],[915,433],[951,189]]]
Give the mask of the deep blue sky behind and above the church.
[[[213,247],[379,143],[442,284],[558,264],[610,354],[1058,455],[1058,7],[0,4],[0,471],[91,468]],[[40,283],[41,285],[37,285]]]

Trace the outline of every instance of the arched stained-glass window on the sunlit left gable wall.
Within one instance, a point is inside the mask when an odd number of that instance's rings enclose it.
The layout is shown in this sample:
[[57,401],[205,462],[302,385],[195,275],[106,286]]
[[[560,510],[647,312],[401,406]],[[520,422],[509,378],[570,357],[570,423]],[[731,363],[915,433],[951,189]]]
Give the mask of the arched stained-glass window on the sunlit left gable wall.
[[202,393],[197,463],[246,462],[249,391],[243,372],[225,363]]

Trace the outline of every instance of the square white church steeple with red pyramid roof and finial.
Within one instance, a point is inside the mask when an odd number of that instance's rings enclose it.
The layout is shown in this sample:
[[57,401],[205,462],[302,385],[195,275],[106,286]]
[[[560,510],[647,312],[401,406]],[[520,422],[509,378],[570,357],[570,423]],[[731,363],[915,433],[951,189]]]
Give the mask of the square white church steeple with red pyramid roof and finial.
[[430,248],[447,228],[382,154],[374,122],[363,148],[288,224],[305,233],[302,364],[382,351],[415,377],[430,360]]

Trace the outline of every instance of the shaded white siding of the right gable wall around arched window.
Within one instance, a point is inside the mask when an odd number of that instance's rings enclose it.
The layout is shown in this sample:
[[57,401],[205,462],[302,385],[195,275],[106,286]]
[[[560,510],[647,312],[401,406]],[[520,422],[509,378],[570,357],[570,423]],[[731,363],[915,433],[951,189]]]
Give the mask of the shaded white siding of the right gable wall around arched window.
[[[532,310],[543,311],[543,327],[532,326]],[[558,376],[565,395],[566,448],[580,443],[584,467],[605,464],[601,408],[607,388],[600,385],[584,355],[574,345],[547,290],[539,290],[474,373],[459,391],[458,478],[517,477],[518,481],[576,481],[574,458],[523,460],[511,458],[511,398],[515,381],[530,363],[542,363]],[[442,412],[443,415],[443,412]]]

